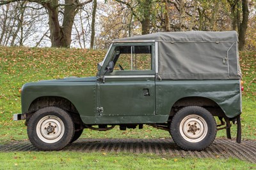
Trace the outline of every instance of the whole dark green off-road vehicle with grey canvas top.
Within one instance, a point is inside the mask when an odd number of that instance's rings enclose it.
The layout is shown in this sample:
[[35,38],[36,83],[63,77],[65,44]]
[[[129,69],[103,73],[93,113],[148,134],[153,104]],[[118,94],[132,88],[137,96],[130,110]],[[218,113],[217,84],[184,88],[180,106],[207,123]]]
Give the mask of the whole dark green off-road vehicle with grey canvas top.
[[[28,137],[40,150],[61,150],[84,128],[151,125],[184,150],[211,145],[237,122],[241,142],[241,69],[236,31],[158,32],[115,39],[97,76],[26,83],[21,89]],[[220,125],[216,119],[220,119]]]

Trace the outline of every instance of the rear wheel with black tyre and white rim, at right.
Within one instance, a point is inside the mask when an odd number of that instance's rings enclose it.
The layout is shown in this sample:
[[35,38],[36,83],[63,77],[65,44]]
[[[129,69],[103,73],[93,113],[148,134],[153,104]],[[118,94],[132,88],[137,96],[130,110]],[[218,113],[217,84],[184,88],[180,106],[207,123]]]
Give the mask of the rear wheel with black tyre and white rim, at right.
[[216,137],[216,122],[211,113],[199,106],[179,110],[170,125],[173,141],[184,150],[200,151]]

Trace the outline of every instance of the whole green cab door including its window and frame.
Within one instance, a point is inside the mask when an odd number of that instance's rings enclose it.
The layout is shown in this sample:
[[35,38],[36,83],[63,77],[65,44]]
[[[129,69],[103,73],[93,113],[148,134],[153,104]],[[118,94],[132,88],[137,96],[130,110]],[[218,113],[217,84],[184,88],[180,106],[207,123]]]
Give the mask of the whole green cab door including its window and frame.
[[98,81],[97,114],[122,118],[154,115],[154,43],[113,45],[106,59],[111,61],[113,73],[103,72],[104,81]]

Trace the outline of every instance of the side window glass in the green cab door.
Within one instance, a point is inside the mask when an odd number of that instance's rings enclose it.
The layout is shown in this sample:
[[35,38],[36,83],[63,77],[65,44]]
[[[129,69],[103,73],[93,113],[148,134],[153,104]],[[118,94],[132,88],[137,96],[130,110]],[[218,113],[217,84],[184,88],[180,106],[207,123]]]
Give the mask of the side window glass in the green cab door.
[[152,70],[152,46],[116,46],[111,60],[114,71],[147,71]]

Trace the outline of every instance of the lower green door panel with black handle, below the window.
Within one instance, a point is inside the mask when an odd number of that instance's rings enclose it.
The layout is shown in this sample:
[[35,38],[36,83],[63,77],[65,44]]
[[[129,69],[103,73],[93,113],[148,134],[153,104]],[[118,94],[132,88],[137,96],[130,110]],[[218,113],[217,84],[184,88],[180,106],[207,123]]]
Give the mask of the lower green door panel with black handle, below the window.
[[[110,77],[110,76],[109,76]],[[106,78],[98,82],[98,108],[101,116],[154,115],[154,78]],[[132,122],[131,122],[132,123]]]

